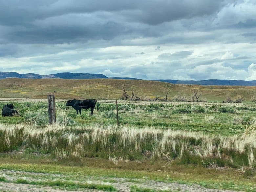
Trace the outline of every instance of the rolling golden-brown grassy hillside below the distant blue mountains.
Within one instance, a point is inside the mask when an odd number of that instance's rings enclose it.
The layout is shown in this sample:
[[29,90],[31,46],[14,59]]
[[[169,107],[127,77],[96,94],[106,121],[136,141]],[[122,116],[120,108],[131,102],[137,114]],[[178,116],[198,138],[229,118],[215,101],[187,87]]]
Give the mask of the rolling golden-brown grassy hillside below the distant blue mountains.
[[168,97],[179,91],[190,95],[193,89],[202,92],[202,96],[210,100],[224,100],[227,94],[243,95],[247,101],[256,94],[256,86],[202,86],[176,85],[158,81],[123,80],[123,79],[1,79],[0,97],[46,98],[56,91],[56,98],[96,98],[118,99],[121,87],[127,90],[132,85],[138,87],[139,96],[164,96],[164,90],[171,89]]

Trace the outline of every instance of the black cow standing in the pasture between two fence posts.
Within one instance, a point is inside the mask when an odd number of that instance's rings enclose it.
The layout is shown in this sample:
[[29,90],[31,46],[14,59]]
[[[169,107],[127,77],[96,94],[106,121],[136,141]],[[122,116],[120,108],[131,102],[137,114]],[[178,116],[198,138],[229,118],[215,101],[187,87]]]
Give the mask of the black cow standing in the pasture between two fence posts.
[[76,110],[76,114],[78,114],[78,111],[81,115],[81,109],[89,109],[91,108],[91,115],[93,115],[93,110],[95,108],[95,104],[97,103],[97,110],[98,108],[98,102],[96,99],[72,99],[68,100],[66,103],[66,106],[72,106]]

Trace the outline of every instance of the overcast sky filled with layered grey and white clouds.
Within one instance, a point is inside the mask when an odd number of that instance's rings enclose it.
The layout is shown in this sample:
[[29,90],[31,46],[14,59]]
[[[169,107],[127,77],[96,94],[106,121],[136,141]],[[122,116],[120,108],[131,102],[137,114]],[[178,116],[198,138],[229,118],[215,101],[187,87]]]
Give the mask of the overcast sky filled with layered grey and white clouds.
[[0,71],[256,80],[255,0],[0,0]]

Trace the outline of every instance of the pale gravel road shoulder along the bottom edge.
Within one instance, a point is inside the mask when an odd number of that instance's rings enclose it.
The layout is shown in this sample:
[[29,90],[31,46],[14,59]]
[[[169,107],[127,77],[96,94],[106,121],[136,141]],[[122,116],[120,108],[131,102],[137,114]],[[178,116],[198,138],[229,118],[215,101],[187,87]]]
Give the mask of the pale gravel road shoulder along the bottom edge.
[[[130,187],[132,185],[136,185],[141,188],[150,188],[156,190],[174,190],[177,189],[181,192],[237,192],[234,190],[223,190],[223,189],[208,189],[204,188],[200,185],[192,184],[180,184],[180,183],[166,183],[160,181],[143,181],[143,180],[127,180],[124,178],[70,178],[69,175],[64,174],[48,174],[48,173],[31,173],[25,171],[13,171],[13,170],[0,170],[0,174],[4,175],[5,178],[9,182],[0,182],[0,192],[9,192],[9,191],[19,191],[19,192],[27,192],[27,191],[49,191],[49,192],[71,192],[69,190],[64,189],[56,189],[56,187],[52,188],[49,186],[43,185],[31,185],[31,184],[19,184],[14,183],[18,178],[25,178],[27,180],[32,181],[42,181],[49,180],[53,178],[62,178],[63,181],[74,181],[76,180],[79,183],[95,183],[95,184],[107,184],[112,185],[117,188],[120,192],[130,192]],[[75,182],[76,182],[75,181]],[[83,191],[83,192],[99,192],[100,190],[93,189],[74,189],[72,191]]]

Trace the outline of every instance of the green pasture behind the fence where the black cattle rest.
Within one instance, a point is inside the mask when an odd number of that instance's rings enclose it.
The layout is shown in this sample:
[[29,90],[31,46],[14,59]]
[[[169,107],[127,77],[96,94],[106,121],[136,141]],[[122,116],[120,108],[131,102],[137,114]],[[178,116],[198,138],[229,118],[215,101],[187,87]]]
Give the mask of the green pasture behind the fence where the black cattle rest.
[[[49,122],[47,101],[2,101],[0,108],[7,103],[13,103],[14,109],[21,116],[0,117],[2,123],[45,126]],[[100,101],[99,111],[95,108],[93,116],[90,116],[90,109],[82,109],[82,114],[76,115],[76,111],[65,104],[66,101],[56,101],[59,124],[117,124],[115,101]],[[118,102],[119,124],[127,126],[156,126],[163,129],[235,135],[243,132],[255,117],[255,104]]]

